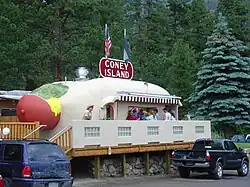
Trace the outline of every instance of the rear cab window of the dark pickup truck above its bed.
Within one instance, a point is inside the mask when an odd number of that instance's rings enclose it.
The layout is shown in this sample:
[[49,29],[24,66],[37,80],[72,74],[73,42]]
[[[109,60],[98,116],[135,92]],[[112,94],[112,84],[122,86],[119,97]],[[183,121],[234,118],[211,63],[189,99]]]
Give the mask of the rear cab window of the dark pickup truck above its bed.
[[205,141],[195,142],[193,149],[194,150],[204,150],[204,149],[223,150],[223,146],[220,141],[205,140]]

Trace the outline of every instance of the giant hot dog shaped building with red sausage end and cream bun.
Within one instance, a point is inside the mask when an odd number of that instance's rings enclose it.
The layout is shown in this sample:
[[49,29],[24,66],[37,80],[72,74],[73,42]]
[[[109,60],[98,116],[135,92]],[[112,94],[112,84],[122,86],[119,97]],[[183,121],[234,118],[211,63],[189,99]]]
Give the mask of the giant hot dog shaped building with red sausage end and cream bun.
[[17,116],[23,122],[47,125],[43,131],[52,136],[71,120],[81,120],[88,105],[94,105],[92,120],[105,119],[107,105],[113,119],[125,120],[131,106],[156,107],[161,112],[165,105],[171,105],[178,112],[181,103],[179,97],[154,84],[96,78],[43,85],[20,99]]

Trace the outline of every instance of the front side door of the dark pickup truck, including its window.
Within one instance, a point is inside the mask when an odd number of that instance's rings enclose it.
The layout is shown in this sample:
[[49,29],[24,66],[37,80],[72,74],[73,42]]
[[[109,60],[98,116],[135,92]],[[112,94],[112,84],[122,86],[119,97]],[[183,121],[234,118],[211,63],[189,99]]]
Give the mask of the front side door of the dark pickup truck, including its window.
[[229,169],[235,169],[240,166],[240,160],[238,158],[238,148],[231,141],[225,141],[225,149],[227,150],[227,167]]

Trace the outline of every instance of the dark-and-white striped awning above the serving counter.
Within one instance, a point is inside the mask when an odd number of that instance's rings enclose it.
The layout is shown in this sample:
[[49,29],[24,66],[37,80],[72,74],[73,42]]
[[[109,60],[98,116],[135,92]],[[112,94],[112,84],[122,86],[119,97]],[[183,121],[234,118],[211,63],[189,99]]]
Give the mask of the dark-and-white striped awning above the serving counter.
[[181,105],[180,97],[160,94],[118,93],[119,101]]

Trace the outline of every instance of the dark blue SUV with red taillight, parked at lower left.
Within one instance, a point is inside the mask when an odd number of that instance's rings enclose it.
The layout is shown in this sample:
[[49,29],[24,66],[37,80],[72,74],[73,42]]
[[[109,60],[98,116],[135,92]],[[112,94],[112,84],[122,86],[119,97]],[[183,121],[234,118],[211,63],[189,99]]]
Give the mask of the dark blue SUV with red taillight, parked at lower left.
[[5,187],[72,187],[70,161],[47,140],[1,140],[0,174]]

